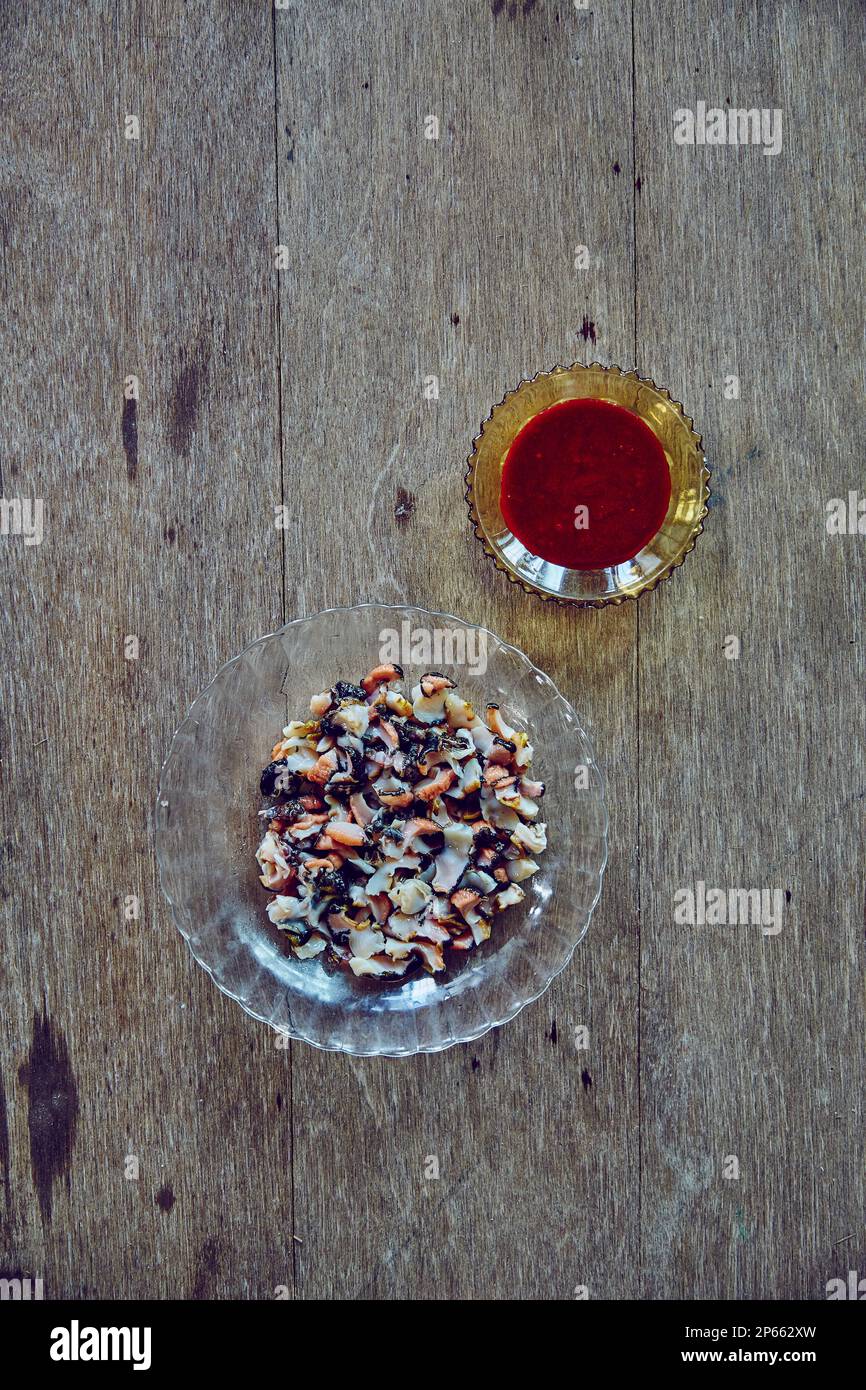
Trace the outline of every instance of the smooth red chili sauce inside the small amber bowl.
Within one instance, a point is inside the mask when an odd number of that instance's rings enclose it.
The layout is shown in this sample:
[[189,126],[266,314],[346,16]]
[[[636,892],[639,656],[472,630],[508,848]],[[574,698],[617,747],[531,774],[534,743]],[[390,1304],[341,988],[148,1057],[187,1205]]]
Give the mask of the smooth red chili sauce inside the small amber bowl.
[[669,502],[660,442],[638,416],[606,400],[542,410],[502,470],[509,530],[532,555],[570,570],[631,560],[660,530]]

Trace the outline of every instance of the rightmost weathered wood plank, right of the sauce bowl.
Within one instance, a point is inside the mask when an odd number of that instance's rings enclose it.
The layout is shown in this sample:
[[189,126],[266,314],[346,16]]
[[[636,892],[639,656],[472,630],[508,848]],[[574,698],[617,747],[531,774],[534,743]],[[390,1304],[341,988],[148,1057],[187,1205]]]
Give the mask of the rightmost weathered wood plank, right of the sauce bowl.
[[[635,7],[638,341],[703,430],[714,493],[696,563],[641,613],[653,1298],[823,1298],[866,1262],[862,538],[824,527],[858,481],[855,25],[851,6],[688,25]],[[699,100],[781,108],[781,152],[674,145]],[[696,880],[781,890],[781,930],[677,926]]]

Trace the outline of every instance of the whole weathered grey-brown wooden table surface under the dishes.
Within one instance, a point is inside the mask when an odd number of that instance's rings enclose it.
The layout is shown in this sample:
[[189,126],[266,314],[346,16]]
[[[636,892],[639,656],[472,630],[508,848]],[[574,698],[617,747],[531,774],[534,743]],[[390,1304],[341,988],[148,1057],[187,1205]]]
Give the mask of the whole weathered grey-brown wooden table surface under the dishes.
[[[827,530],[863,486],[860,21],[3,7],[0,481],[44,535],[0,537],[0,1275],[375,1300],[866,1275],[865,542]],[[778,108],[780,152],[677,143],[699,101]],[[509,585],[461,495],[491,404],[574,360],[666,385],[712,468],[684,569],[603,612]],[[612,820],[549,992],[402,1062],[277,1048],[190,959],[153,855],[197,691],[363,599],[549,671]],[[698,881],[783,890],[781,931],[678,924]]]

